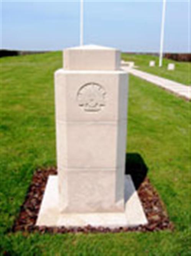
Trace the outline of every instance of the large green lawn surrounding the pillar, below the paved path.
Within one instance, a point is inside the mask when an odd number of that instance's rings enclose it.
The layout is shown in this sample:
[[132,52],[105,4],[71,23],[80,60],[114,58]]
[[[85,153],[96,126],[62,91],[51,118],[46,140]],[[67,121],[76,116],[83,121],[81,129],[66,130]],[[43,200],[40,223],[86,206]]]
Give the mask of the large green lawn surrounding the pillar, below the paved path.
[[191,103],[133,76],[127,152],[144,159],[175,230],[12,233],[33,172],[56,164],[53,72],[61,65],[61,52],[1,59],[1,255],[190,255]]

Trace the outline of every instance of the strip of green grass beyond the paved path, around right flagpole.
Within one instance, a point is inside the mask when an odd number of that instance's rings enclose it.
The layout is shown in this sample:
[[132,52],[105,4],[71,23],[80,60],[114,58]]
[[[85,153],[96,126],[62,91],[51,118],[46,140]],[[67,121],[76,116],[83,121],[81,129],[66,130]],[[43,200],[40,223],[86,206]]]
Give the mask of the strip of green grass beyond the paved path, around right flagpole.
[[[122,59],[126,61],[134,61],[138,69],[158,75],[184,85],[191,85],[190,79],[190,62],[178,62],[163,58],[163,66],[158,67],[158,57],[151,55],[134,55],[122,54]],[[149,67],[150,60],[155,60],[156,66]],[[175,64],[175,70],[167,70],[169,63]]]

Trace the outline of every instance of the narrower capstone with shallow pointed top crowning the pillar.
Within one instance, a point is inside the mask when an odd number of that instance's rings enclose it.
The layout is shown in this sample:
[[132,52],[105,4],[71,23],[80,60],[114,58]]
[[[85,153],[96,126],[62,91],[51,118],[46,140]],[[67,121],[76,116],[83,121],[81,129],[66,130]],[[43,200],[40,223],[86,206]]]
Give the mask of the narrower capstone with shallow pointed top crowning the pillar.
[[83,45],[64,50],[65,70],[119,70],[120,51],[99,45]]

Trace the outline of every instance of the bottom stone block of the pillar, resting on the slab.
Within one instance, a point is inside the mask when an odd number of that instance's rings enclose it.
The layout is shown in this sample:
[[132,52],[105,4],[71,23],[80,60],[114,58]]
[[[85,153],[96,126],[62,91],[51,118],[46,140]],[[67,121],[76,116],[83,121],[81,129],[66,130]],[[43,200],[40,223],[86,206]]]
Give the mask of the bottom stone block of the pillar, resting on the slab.
[[124,212],[124,184],[116,183],[117,172],[124,176],[124,168],[65,168],[59,174],[60,212]]

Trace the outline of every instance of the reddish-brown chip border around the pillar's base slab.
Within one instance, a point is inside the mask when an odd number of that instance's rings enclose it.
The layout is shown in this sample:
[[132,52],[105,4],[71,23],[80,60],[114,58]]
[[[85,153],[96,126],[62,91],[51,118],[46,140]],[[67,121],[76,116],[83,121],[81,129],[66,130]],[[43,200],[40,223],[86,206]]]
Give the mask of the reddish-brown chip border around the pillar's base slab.
[[38,231],[40,233],[99,233],[99,232],[127,232],[127,231],[160,231],[164,229],[173,229],[173,224],[170,222],[166,213],[163,202],[161,201],[158,193],[151,185],[149,179],[146,177],[144,181],[138,187],[138,195],[142,202],[145,214],[148,219],[147,225],[140,225],[137,227],[129,228],[94,228],[90,225],[86,227],[66,228],[66,227],[45,227],[35,226],[38,212],[40,210],[41,202],[43,199],[43,193],[46,187],[46,182],[49,175],[56,175],[57,171],[55,167],[48,169],[39,169],[33,175],[31,185],[25,198],[25,202],[21,206],[20,214],[16,219],[13,226],[13,232],[16,231]]

